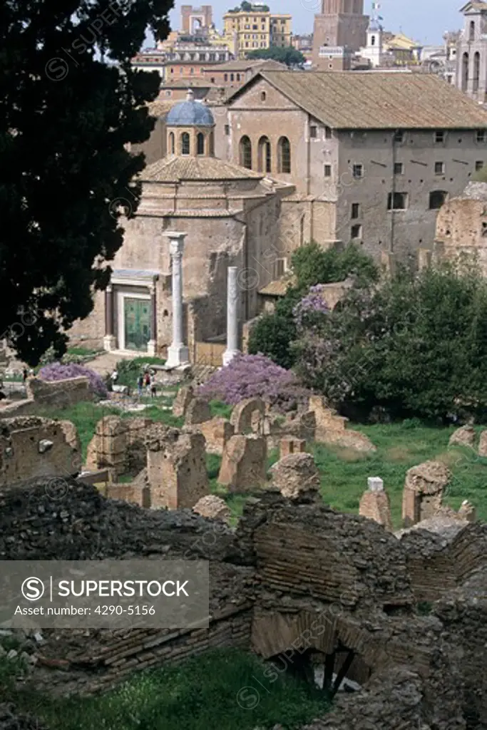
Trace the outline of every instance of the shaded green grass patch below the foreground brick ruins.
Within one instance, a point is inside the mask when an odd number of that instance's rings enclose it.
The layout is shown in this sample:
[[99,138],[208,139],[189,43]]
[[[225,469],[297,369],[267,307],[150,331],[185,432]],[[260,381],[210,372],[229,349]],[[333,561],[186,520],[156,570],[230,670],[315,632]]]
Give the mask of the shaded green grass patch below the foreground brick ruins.
[[274,675],[255,656],[222,649],[133,675],[101,696],[15,699],[48,730],[294,730],[329,710],[318,689]]

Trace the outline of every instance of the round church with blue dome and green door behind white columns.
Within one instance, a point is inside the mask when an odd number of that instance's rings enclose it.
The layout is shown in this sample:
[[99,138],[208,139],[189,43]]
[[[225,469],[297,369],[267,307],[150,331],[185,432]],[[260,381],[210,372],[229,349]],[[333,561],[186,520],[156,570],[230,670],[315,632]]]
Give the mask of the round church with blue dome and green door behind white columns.
[[[215,157],[215,120],[193,99],[166,118],[168,154],[141,174],[137,214],[125,220],[110,285],[91,315],[75,323],[72,342],[166,356],[172,341],[171,232],[183,232],[183,331],[190,358],[196,342],[226,331],[229,266],[239,272],[239,316],[255,317],[258,289],[276,277],[281,201],[294,186]],[[272,252],[272,253],[271,253]]]

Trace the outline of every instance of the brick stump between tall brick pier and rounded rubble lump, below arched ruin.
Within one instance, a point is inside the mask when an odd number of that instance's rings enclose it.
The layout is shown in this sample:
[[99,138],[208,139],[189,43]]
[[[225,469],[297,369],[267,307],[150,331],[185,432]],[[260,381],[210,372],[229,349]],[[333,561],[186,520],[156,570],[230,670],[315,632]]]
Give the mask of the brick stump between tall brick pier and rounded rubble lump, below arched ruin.
[[228,485],[231,492],[245,493],[266,481],[266,439],[252,434],[236,434],[223,450],[218,482]]

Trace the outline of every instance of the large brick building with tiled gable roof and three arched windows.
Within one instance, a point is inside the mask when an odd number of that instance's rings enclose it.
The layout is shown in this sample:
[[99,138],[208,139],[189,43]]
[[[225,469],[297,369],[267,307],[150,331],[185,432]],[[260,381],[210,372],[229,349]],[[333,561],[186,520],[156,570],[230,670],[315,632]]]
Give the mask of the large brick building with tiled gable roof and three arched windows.
[[291,248],[353,240],[404,260],[487,161],[487,113],[432,74],[261,72],[218,114],[216,150],[295,186]]

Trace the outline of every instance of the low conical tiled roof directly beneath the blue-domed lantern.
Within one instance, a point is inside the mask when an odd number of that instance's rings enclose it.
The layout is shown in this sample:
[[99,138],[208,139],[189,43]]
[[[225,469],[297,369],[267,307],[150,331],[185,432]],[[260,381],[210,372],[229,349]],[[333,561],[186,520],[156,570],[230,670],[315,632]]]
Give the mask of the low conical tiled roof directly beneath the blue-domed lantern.
[[180,180],[261,180],[263,175],[216,157],[171,155],[148,165],[140,174],[147,183],[177,183]]

